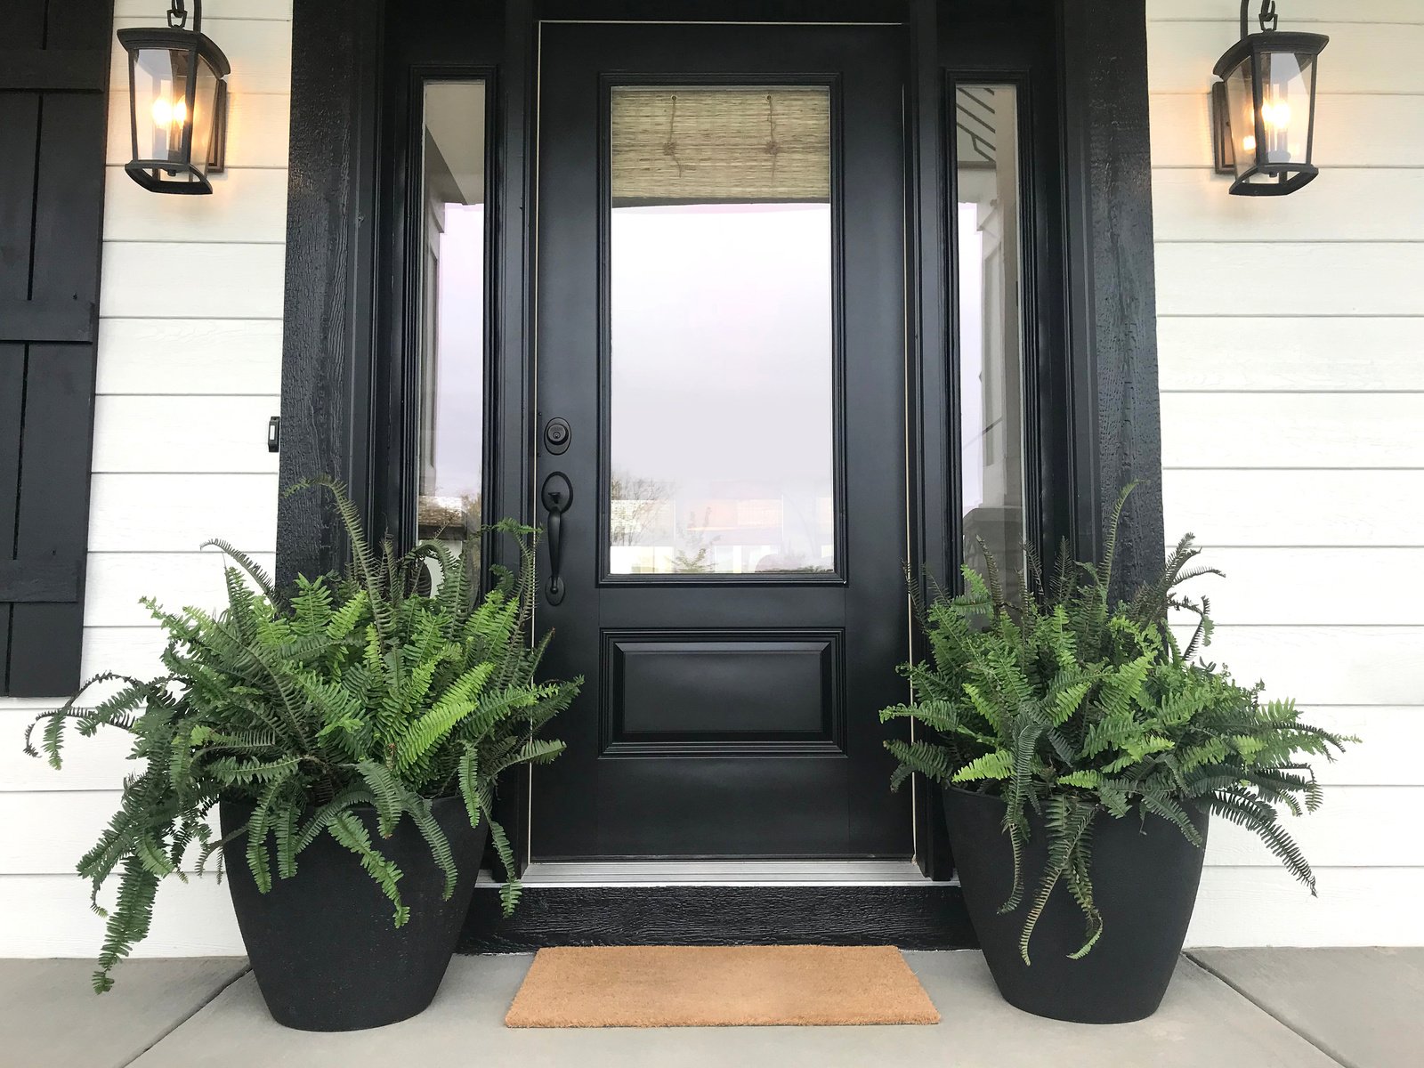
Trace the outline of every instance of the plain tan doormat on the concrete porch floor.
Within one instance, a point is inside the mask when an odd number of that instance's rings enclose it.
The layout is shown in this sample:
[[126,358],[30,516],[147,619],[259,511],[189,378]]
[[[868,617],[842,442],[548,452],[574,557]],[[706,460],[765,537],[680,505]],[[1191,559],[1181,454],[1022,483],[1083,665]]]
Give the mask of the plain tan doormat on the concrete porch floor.
[[540,950],[506,1027],[937,1024],[893,946]]

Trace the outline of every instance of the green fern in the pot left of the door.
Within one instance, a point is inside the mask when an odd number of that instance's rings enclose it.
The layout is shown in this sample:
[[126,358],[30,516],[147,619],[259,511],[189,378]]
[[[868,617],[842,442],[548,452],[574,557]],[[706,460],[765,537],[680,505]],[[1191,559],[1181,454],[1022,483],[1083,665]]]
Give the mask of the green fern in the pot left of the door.
[[[26,735],[26,752],[43,753],[54,768],[70,728],[132,738],[138,770],[78,862],[93,907],[107,917],[98,993],[112,987],[114,965],[148,934],[161,880],[187,879],[189,850],[199,871],[216,854],[221,877],[228,839],[245,839],[246,864],[266,893],[273,879],[296,876],[302,852],[328,834],[355,854],[390,900],[396,926],[404,924],[400,871],[356,817],[357,806],[375,807],[380,836],[412,822],[444,873],[449,899],[460,873],[430,803],[463,797],[471,826],[488,823],[504,866],[506,914],[518,900],[510,842],[493,819],[496,783],[510,768],[562,752],[562,742],[540,732],[582,682],[537,679],[550,641],[528,637],[537,533],[494,527],[518,541],[520,570],[497,570],[497,585],[476,600],[463,558],[439,544],[404,555],[389,541],[373,550],[346,488],[316,478],[293,491],[312,487],[336,498],[350,543],[345,575],[299,578],[282,595],[251,558],[209,543],[229,561],[226,608],[168,612],[145,601],[167,632],[164,674],[100,675]],[[433,590],[431,571],[441,577]],[[78,703],[90,688],[115,682],[112,696]],[[221,840],[209,823],[219,800],[253,806],[246,824]],[[115,873],[117,904],[104,910],[98,893]]]

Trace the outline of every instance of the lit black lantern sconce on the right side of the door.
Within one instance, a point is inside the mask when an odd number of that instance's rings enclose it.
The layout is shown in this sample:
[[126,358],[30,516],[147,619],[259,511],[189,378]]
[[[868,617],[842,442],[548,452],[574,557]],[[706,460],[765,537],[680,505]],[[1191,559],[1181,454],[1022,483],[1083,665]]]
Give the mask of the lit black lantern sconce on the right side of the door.
[[1316,60],[1330,38],[1280,33],[1276,0],[1262,0],[1260,33],[1250,33],[1242,0],[1242,38],[1216,64],[1212,141],[1216,172],[1233,174],[1236,197],[1286,197],[1314,181]]

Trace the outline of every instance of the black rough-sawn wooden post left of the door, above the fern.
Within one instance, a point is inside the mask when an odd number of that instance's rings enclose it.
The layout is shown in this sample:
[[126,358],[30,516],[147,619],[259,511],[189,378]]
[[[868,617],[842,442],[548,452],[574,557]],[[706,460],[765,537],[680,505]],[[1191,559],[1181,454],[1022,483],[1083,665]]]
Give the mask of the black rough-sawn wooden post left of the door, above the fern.
[[[295,0],[282,337],[282,486],[350,484],[370,515],[376,144],[384,0]],[[377,531],[379,533],[379,531]],[[330,497],[278,510],[278,578],[345,560]]]

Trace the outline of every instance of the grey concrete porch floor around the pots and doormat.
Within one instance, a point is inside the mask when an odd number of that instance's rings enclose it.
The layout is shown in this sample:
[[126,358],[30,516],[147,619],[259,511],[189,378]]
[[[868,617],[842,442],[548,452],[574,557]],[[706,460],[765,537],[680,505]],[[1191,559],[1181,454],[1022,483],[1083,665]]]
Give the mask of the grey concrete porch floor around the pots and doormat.
[[241,958],[140,960],[103,998],[88,961],[0,961],[6,1068],[365,1068],[389,1064],[937,1064],[1014,1068],[1417,1068],[1424,1064],[1424,948],[1196,950],[1162,1011],[1079,1027],[1000,1000],[978,953],[907,953],[938,1027],[511,1031],[530,957],[456,957],[434,1005],[376,1031],[318,1035],[268,1017]]

